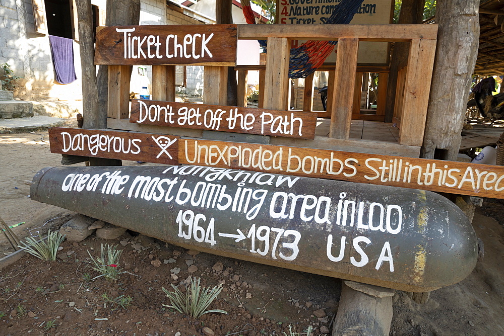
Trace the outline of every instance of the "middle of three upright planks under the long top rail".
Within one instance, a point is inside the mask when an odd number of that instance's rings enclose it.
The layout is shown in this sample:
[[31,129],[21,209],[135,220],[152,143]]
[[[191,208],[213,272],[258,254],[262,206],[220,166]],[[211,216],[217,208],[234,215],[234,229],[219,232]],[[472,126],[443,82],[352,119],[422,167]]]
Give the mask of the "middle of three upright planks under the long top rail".
[[339,39],[334,74],[335,95],[332,99],[331,132],[329,137],[348,139],[352,120],[353,88],[355,83],[355,69],[357,65],[357,51],[359,40]]

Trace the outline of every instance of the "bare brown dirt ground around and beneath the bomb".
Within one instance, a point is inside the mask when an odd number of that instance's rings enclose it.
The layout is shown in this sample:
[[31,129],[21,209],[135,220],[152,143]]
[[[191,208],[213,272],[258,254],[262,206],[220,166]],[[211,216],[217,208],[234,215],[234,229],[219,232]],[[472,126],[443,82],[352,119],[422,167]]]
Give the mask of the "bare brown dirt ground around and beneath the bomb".
[[[73,121],[69,124],[75,126]],[[13,228],[20,238],[45,234],[76,215],[28,197],[35,173],[60,165],[60,158],[50,153],[46,131],[0,135],[0,217],[9,225],[24,222]],[[503,225],[504,202],[485,199],[473,221],[484,242],[483,261],[464,281],[432,292],[426,304],[396,291],[391,334],[504,334]],[[216,335],[283,335],[289,334],[289,326],[299,332],[311,325],[314,334],[332,328],[339,279],[196,253],[128,231],[106,242],[124,249],[119,266],[129,273],[115,284],[103,278],[86,280],[87,274],[96,275],[88,269],[87,251],[96,256],[101,242],[94,234],[80,243],[65,241],[56,262],[25,256],[0,270],[0,312],[5,314],[0,334],[175,335],[178,331],[183,336],[202,335],[208,332],[206,327]],[[0,253],[11,251],[0,238]],[[178,270],[176,277],[173,270]],[[171,288],[189,276],[201,277],[204,286],[222,283],[224,290],[210,308],[228,314],[192,319],[164,307],[169,300],[161,288]],[[131,297],[131,303],[110,302],[121,296]],[[326,316],[314,315],[320,309]]]

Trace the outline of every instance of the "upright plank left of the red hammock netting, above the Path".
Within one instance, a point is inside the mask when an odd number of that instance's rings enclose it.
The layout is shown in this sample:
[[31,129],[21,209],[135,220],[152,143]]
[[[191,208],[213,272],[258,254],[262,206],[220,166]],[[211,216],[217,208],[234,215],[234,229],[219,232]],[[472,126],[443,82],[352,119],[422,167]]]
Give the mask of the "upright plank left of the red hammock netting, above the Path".
[[264,85],[264,108],[287,110],[289,98],[290,40],[268,38],[266,54],[266,78]]

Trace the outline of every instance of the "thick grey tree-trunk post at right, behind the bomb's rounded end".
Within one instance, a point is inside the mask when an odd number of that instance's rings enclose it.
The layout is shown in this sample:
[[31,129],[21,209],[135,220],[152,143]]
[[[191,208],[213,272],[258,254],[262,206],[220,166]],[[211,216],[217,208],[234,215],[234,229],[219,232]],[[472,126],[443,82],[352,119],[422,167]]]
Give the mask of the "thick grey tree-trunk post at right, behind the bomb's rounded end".
[[437,3],[437,48],[420,157],[457,160],[478,55],[478,0]]

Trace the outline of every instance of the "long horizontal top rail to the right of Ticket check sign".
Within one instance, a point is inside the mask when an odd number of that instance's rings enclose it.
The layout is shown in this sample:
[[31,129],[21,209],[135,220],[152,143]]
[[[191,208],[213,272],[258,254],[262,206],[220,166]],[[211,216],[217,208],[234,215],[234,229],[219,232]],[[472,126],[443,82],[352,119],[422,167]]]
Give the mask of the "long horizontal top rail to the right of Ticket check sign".
[[[401,41],[436,39],[437,25],[238,25],[241,40],[261,40],[270,37],[287,37],[293,40],[328,40],[356,38],[360,41]],[[269,52],[269,51],[268,51]]]

